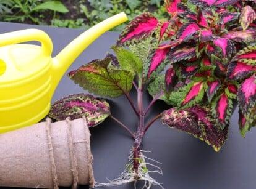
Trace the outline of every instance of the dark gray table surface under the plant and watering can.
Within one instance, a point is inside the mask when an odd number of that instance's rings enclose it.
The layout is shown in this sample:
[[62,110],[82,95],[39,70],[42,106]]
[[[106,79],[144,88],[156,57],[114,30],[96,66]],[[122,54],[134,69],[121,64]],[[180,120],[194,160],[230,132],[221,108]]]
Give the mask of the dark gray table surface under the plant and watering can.
[[[55,28],[51,26],[34,26],[17,23],[0,22],[0,33],[21,30],[24,28],[39,28],[46,31],[53,41],[53,56],[65,47],[83,30]],[[116,42],[119,33],[107,32],[89,46],[68,71],[75,70],[84,63],[95,58],[105,57],[109,47]],[[83,89],[63,76],[52,102],[69,94],[83,92]],[[132,93],[135,99],[135,94]],[[147,105],[151,97],[145,95],[144,103]],[[125,97],[109,100],[111,112],[121,119],[132,131],[135,131],[137,118]],[[153,111],[150,111],[147,120],[161,110],[168,108],[163,102],[156,102]],[[151,174],[164,188],[171,189],[254,189],[256,188],[256,129],[241,137],[238,128],[238,114],[235,110],[231,119],[228,141],[216,153],[206,143],[195,139],[191,135],[169,129],[161,122],[156,121],[143,139],[142,149],[151,151],[146,155],[156,159],[161,164],[163,175]],[[127,156],[132,147],[133,140],[122,127],[111,119],[97,127],[90,129],[92,133],[91,145],[94,157],[93,169],[96,182],[108,182],[107,179],[116,179],[127,164]],[[137,188],[142,187],[141,183]],[[5,187],[0,187],[4,189]],[[79,188],[88,188],[80,186]],[[133,184],[118,187],[98,188],[133,188]],[[160,188],[158,186],[152,189]]]

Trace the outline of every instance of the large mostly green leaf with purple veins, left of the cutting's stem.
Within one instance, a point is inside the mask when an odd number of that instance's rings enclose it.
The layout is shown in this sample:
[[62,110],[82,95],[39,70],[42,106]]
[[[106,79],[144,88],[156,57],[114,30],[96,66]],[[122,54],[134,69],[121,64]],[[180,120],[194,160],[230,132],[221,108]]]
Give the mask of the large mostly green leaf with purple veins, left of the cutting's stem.
[[119,97],[132,89],[134,72],[121,70],[111,63],[111,58],[95,60],[70,71],[69,78],[84,90],[104,97]]

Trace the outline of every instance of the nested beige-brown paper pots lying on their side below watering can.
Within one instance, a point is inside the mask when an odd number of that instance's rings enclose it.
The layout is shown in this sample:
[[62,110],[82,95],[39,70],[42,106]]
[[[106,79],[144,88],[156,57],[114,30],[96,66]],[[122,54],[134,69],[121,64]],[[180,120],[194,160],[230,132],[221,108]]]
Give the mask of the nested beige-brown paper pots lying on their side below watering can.
[[46,122],[0,135],[0,186],[76,188],[94,185],[84,118]]

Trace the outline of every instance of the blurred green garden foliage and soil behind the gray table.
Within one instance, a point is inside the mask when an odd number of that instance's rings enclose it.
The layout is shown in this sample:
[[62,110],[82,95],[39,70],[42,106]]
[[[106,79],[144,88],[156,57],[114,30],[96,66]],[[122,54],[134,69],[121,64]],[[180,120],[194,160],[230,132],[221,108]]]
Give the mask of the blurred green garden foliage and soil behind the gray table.
[[[166,14],[164,0],[0,0],[0,21],[87,29],[124,11],[132,20],[143,12]],[[124,24],[114,28],[121,31]]]

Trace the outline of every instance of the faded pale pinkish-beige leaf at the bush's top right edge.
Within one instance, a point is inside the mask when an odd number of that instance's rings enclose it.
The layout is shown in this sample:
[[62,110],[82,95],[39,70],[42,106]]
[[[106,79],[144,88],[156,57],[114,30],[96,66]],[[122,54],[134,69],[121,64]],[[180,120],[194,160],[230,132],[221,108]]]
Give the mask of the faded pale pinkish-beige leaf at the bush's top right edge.
[[242,7],[239,23],[241,24],[243,30],[246,30],[246,28],[248,28],[250,23],[252,23],[254,20],[256,20],[255,10],[249,5]]

